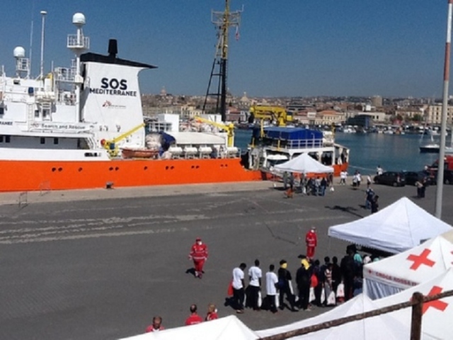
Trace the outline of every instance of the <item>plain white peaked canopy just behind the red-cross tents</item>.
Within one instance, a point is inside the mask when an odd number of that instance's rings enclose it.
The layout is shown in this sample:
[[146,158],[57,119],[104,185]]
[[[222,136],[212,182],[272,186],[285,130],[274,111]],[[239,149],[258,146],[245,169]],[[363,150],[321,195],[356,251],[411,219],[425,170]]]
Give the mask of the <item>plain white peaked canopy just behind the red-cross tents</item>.
[[396,254],[452,230],[406,197],[354,222],[328,228],[328,236]]

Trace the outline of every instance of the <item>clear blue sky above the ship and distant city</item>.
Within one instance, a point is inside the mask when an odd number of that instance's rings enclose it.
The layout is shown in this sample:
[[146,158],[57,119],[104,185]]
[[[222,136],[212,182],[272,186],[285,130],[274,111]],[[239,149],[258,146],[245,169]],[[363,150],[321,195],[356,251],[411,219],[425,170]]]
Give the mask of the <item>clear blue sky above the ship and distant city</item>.
[[[40,11],[46,17],[45,69],[69,66],[71,17],[86,16],[91,52],[117,38],[119,57],[155,64],[140,74],[142,93],[205,94],[216,36],[211,10],[224,0],[16,0],[2,4],[0,64],[13,72],[13,48],[40,62]],[[442,96],[447,0],[231,0],[244,6],[241,38],[231,33],[229,89],[249,96]],[[33,10],[34,8],[34,10]],[[33,15],[32,15],[33,13]],[[453,91],[450,91],[453,93]]]

